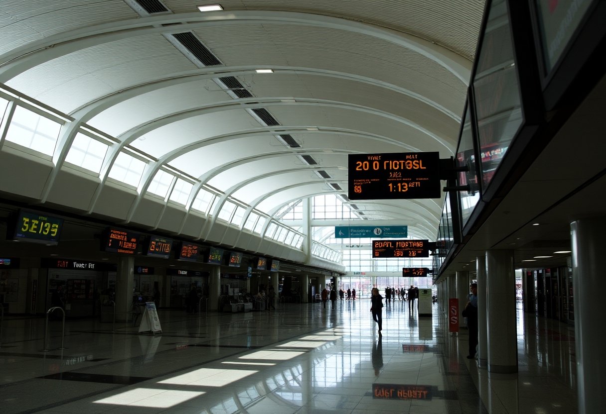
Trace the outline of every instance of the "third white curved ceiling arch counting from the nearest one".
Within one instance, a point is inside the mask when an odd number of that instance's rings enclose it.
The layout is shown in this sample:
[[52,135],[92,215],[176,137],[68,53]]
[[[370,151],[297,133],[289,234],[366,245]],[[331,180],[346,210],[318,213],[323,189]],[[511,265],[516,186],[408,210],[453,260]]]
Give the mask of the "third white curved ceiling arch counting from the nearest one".
[[347,102],[339,102],[336,100],[328,100],[328,99],[310,99],[310,98],[298,98],[294,99],[296,102],[282,102],[281,99],[293,99],[292,97],[264,97],[264,98],[245,98],[245,99],[230,99],[222,102],[214,102],[213,104],[206,105],[204,107],[199,107],[195,109],[188,109],[184,111],[178,111],[175,113],[167,114],[162,117],[158,117],[156,119],[150,120],[148,122],[137,125],[136,127],[131,128],[125,133],[120,134],[117,138],[124,145],[128,145],[128,143],[133,142],[141,136],[144,136],[147,133],[150,133],[157,128],[164,127],[165,125],[169,125],[170,123],[175,123],[180,120],[188,119],[195,116],[207,115],[213,113],[219,113],[222,111],[231,111],[236,109],[244,109],[244,108],[269,108],[269,107],[277,107],[277,106],[313,106],[313,107],[326,107],[326,108],[340,108],[351,111],[359,111],[371,115],[376,115],[380,117],[384,117],[387,119],[395,120],[396,122],[403,123],[408,127],[414,128],[419,132],[431,137],[431,139],[436,140],[439,144],[444,146],[444,150],[446,150],[449,154],[453,153],[453,145],[454,142],[449,143],[446,137],[438,136],[437,134],[427,130],[427,128],[421,127],[418,123],[412,122],[411,120],[395,115],[393,113],[388,113],[381,110],[376,110],[375,108],[365,107],[363,105],[356,104],[348,104]]

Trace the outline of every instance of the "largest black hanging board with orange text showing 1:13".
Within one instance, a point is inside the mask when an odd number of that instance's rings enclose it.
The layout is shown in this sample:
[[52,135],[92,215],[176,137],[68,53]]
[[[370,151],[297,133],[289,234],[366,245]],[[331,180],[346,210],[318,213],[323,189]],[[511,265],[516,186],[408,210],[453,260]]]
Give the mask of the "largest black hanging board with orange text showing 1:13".
[[350,200],[439,199],[440,156],[432,153],[349,154]]

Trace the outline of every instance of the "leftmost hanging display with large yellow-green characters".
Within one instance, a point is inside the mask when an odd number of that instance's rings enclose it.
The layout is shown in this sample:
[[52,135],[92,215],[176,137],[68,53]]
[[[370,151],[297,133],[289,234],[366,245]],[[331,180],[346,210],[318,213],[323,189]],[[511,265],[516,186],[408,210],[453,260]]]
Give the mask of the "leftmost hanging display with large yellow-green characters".
[[35,211],[19,211],[13,240],[57,245],[63,219]]

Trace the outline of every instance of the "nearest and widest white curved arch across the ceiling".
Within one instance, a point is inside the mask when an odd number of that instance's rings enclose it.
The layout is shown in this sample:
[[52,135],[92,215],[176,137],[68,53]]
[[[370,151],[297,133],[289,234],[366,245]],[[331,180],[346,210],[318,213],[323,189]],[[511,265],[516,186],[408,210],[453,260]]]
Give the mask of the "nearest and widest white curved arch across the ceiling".
[[425,39],[335,16],[275,10],[230,10],[225,13],[179,13],[126,19],[58,33],[0,55],[0,82],[60,56],[107,42],[152,34],[182,33],[209,27],[290,24],[329,28],[370,36],[415,51],[444,67],[468,85],[472,62]]

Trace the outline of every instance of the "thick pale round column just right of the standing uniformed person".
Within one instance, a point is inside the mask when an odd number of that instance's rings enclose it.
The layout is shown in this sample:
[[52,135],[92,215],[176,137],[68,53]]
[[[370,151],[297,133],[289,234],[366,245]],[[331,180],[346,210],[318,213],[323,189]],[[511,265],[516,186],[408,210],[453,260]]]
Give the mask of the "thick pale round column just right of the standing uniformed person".
[[518,372],[513,251],[486,252],[488,371]]

